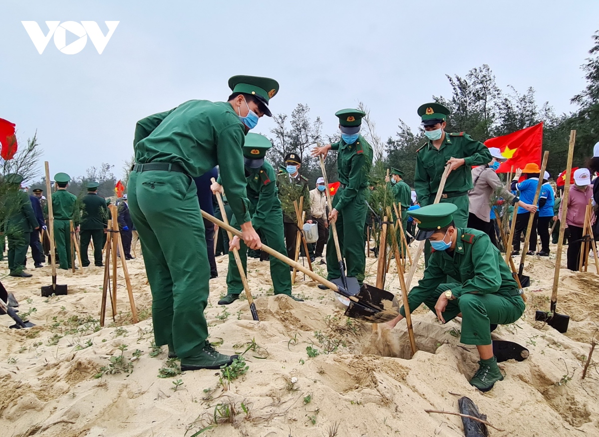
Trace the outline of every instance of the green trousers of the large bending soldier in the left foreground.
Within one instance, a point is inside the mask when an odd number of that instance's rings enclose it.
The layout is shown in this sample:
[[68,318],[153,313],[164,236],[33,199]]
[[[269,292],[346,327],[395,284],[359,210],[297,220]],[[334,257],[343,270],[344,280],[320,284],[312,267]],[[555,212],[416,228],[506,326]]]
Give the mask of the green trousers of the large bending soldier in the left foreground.
[[156,344],[179,358],[198,356],[208,326],[210,264],[196,185],[181,172],[132,171],[129,210],[140,235],[152,290]]

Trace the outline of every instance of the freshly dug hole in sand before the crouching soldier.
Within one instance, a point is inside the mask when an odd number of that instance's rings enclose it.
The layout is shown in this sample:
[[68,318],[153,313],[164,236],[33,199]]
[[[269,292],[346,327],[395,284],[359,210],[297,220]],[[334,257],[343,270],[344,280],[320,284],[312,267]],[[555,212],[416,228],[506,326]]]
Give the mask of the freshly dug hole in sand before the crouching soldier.
[[[447,327],[427,320],[412,319],[416,348],[434,354],[437,348],[447,342]],[[383,357],[412,359],[412,348],[406,322],[400,321],[394,329],[379,324],[376,332],[364,340],[362,354]]]

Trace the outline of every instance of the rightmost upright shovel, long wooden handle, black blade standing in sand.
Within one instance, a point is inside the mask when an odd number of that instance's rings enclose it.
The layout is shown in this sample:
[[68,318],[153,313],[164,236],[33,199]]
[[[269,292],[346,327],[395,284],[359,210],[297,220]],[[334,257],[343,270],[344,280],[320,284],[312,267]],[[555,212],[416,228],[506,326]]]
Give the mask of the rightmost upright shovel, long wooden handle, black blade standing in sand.
[[562,245],[564,244],[565,217],[568,212],[568,197],[570,195],[570,176],[572,174],[572,160],[574,156],[574,142],[576,142],[576,131],[570,131],[570,144],[568,145],[568,161],[565,168],[565,185],[564,196],[562,198],[562,213],[559,217],[561,226],[559,226],[558,250],[555,254],[555,270],[553,271],[553,289],[551,292],[550,312],[537,311],[534,320],[544,321],[549,326],[556,329],[562,334],[568,330],[570,316],[558,314],[555,312],[558,302],[558,284],[559,284],[559,269],[561,268]]

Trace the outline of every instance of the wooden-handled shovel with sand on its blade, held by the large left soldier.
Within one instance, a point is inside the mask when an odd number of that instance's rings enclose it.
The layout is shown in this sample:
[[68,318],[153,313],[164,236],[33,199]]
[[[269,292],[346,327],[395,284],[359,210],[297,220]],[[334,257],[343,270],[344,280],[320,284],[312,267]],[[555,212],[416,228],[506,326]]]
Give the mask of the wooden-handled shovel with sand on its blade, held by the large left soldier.
[[[241,238],[240,231],[218,218],[211,216],[205,211],[202,211],[202,217]],[[347,292],[347,289],[343,286],[338,286],[331,281],[327,281],[325,278],[320,277],[310,269],[305,268],[300,263],[280,254],[267,245],[262,244],[261,249],[275,258],[280,259],[287,265],[295,267],[298,271],[304,273],[314,281],[329,287],[329,289],[333,290],[335,293],[348,298],[350,303],[345,311],[347,317],[357,318],[358,320],[364,320],[368,323],[385,323],[386,321],[393,320],[400,314],[400,305],[397,303],[397,299],[395,299],[395,296],[392,293],[389,293],[386,290],[377,289],[377,287],[364,284],[360,287],[358,293],[352,295]]]

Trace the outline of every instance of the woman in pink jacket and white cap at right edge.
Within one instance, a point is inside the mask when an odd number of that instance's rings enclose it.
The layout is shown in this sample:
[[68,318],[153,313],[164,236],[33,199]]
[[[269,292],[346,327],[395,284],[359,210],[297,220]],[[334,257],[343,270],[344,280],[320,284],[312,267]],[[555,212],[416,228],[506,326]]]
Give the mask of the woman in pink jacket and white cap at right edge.
[[[582,228],[585,224],[586,205],[593,197],[591,188],[591,172],[586,168],[579,168],[574,172],[574,185],[570,186],[568,193],[568,211],[565,217],[565,235],[568,237],[568,269],[579,271],[580,248],[582,247]],[[559,217],[562,214],[559,205]],[[591,223],[595,221],[595,213],[591,211]]]

